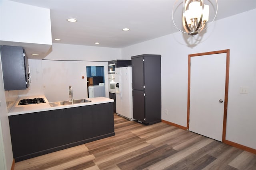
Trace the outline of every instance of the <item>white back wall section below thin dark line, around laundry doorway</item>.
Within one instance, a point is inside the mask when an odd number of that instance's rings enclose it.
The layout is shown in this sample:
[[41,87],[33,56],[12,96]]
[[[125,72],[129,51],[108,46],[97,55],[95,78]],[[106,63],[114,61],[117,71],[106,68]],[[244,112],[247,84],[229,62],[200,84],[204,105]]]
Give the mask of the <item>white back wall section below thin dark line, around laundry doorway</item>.
[[[108,63],[84,61],[42,61],[44,95],[49,102],[68,100],[68,86],[73,89],[74,99],[87,96],[86,66],[104,66],[106,97],[108,97]],[[84,79],[82,79],[84,76]]]

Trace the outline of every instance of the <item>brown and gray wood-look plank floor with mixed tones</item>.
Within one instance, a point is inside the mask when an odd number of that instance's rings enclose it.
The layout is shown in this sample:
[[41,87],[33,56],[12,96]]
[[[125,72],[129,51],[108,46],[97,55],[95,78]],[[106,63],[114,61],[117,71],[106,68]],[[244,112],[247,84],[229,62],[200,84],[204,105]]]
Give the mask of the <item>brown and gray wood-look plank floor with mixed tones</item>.
[[15,170],[256,170],[256,154],[160,122],[114,114],[115,133],[15,163]]

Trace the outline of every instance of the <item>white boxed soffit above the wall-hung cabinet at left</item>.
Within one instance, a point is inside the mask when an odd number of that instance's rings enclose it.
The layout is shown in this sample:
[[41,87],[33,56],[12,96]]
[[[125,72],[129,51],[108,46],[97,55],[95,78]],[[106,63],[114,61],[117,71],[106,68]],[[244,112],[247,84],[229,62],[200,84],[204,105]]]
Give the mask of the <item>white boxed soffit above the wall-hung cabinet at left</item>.
[[0,45],[23,47],[29,59],[43,59],[51,52],[50,9],[2,0],[0,14],[8,16],[0,18]]

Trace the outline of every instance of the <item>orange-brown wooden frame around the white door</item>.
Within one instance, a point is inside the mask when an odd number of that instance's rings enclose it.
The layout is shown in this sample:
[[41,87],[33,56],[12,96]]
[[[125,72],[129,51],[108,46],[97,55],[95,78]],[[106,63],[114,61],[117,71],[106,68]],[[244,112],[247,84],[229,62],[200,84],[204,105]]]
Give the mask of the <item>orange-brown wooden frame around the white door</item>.
[[211,51],[206,53],[196,53],[188,55],[188,108],[187,108],[187,130],[189,130],[189,114],[190,114],[190,59],[191,57],[197,57],[202,55],[212,55],[226,53],[226,81],[225,81],[225,99],[224,99],[224,117],[223,117],[223,130],[222,130],[222,142],[226,142],[226,124],[227,124],[227,111],[228,111],[228,82],[229,82],[229,58],[230,49]]

